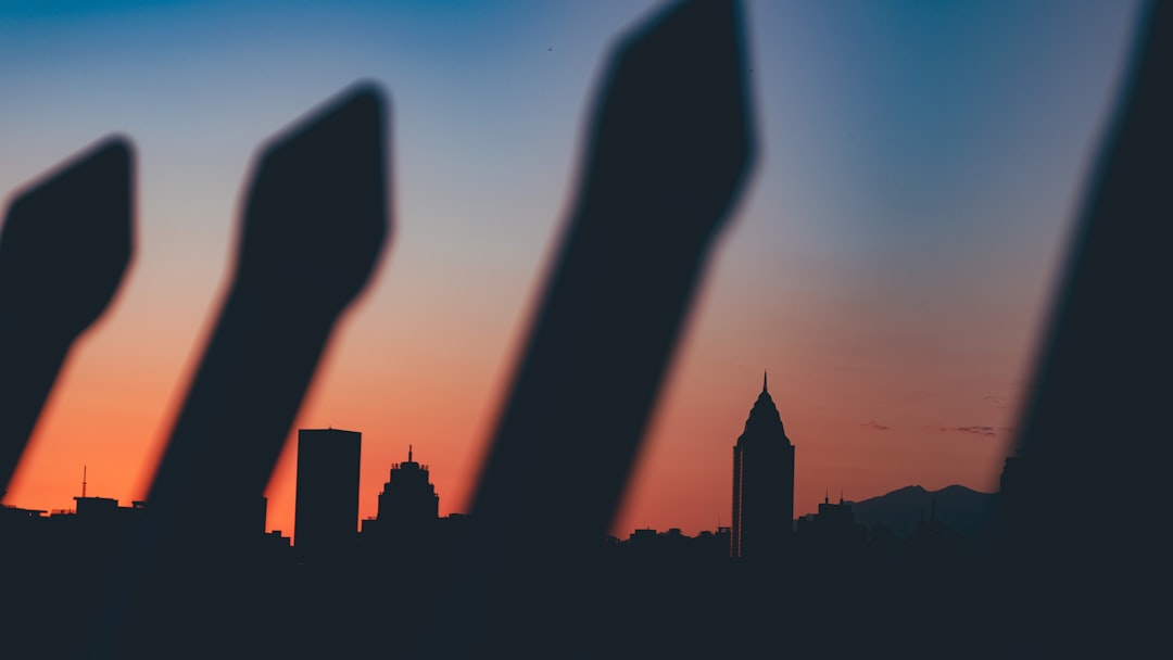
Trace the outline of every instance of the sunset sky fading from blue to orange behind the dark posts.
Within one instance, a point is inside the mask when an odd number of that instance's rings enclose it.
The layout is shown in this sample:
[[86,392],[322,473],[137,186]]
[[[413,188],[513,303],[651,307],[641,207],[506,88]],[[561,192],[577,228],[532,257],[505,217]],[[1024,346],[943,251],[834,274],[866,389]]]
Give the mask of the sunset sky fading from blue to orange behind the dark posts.
[[[257,148],[359,80],[392,104],[394,236],[296,429],[362,433],[467,511],[613,40],[660,2],[0,2],[0,192],[109,134],[137,252],[74,346],[4,502],[143,498],[219,311]],[[711,254],[616,535],[727,525],[762,372],[823,494],[997,489],[1134,2],[750,1],[758,169]],[[592,402],[583,402],[591,414]],[[208,488],[216,487],[209,475]]]

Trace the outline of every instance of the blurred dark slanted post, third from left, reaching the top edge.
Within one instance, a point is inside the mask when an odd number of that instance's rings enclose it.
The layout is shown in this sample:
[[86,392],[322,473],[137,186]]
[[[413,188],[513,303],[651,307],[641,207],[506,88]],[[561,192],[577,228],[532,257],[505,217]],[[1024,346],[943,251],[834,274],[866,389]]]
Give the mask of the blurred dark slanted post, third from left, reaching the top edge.
[[[472,536],[422,655],[610,647],[601,607],[618,594],[595,591],[599,543],[755,156],[743,30],[738,2],[691,0],[615,47]],[[449,626],[460,634],[440,634]]]

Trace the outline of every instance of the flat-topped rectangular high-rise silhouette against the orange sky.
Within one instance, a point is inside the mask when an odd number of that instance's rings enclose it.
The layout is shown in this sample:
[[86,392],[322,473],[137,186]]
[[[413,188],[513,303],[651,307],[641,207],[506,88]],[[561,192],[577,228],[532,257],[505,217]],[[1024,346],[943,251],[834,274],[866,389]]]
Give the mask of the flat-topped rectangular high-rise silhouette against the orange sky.
[[358,544],[361,441],[358,431],[297,431],[293,546],[304,559],[337,557]]

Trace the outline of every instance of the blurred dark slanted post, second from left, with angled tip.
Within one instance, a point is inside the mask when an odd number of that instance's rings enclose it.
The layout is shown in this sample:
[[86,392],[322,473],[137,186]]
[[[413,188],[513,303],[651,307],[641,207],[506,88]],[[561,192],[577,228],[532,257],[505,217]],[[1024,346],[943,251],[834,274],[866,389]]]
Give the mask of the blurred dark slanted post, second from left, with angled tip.
[[[90,640],[96,658],[264,653],[264,489],[388,233],[385,102],[364,84],[266,145],[232,285]],[[325,605],[325,604],[324,604]]]

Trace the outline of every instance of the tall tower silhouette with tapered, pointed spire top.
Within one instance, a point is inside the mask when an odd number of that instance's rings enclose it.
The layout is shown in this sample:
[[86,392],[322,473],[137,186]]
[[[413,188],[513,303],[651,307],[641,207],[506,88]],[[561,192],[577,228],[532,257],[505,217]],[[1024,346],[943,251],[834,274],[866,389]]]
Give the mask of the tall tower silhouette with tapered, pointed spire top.
[[769,396],[766,376],[733,445],[733,529],[730,554],[769,560],[787,546],[794,526],[794,444]]

